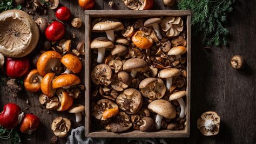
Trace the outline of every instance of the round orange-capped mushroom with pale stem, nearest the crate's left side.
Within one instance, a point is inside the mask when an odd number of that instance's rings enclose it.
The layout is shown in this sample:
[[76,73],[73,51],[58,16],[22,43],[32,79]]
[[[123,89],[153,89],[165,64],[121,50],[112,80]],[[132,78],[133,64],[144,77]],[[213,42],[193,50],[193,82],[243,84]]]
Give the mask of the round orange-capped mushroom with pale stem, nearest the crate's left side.
[[63,73],[79,73],[82,70],[82,63],[77,56],[73,54],[65,54],[60,62],[66,67],[66,70]]

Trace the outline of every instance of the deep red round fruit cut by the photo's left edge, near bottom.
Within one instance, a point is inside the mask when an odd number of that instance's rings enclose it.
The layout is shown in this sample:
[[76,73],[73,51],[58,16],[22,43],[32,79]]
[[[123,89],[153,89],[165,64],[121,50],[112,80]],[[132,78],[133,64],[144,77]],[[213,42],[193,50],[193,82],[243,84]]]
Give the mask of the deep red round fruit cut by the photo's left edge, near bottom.
[[18,116],[21,114],[21,107],[16,104],[4,105],[0,113],[0,125],[6,129],[13,129],[18,125]]

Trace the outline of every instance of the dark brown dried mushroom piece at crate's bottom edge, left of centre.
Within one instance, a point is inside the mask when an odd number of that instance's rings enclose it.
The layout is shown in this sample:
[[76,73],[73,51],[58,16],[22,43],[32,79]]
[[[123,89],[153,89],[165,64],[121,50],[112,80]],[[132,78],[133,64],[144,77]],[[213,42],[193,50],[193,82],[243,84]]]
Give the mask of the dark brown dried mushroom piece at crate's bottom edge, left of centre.
[[129,115],[125,112],[119,112],[114,116],[114,122],[110,124],[110,131],[113,133],[120,133],[127,131],[132,127],[132,122],[130,121]]

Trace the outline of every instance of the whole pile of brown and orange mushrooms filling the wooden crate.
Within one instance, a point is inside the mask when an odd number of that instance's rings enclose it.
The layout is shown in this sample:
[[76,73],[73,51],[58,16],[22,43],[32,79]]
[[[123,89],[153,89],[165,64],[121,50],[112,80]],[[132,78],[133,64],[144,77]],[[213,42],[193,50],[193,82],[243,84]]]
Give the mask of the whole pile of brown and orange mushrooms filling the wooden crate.
[[[181,17],[92,22],[92,116],[121,133],[186,126],[186,33]],[[106,36],[97,33],[106,33]]]

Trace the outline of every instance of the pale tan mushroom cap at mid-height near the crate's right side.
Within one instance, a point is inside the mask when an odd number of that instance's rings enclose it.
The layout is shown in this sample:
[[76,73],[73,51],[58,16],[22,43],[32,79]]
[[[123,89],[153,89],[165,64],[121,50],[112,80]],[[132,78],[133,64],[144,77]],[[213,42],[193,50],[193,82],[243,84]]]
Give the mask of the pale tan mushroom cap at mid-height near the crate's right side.
[[172,78],[179,76],[180,70],[177,68],[165,68],[164,70],[159,71],[158,77],[159,78]]

